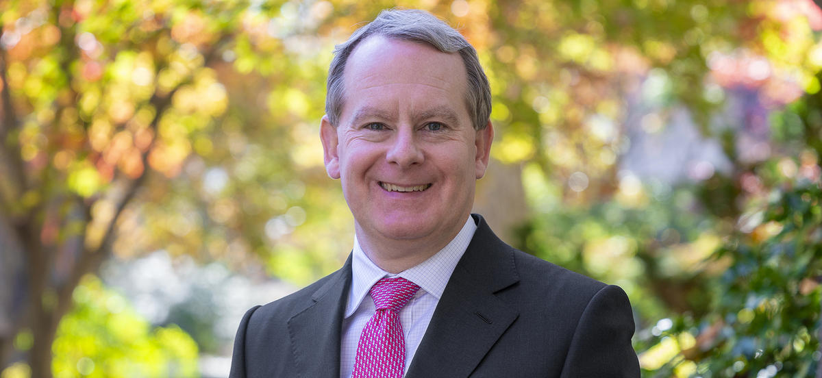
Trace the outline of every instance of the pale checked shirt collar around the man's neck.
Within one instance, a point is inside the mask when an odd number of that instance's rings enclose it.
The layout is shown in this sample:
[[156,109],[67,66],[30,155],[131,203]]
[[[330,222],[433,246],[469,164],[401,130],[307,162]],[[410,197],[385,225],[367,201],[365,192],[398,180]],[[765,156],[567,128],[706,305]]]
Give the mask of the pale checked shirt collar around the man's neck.
[[399,274],[390,274],[382,270],[379,266],[376,266],[376,264],[366,256],[363,248],[360,247],[357,235],[355,234],[351,260],[351,273],[353,278],[351,280],[349,301],[345,307],[345,317],[348,318],[352,316],[354,311],[357,311],[360,303],[363,302],[363,298],[366,297],[368,291],[374,286],[374,283],[386,276],[398,276],[408,279],[418,284],[420,288],[439,300],[442,292],[446,289],[446,284],[448,284],[451,273],[454,271],[459,259],[465,253],[465,249],[468,248],[471,238],[473,238],[473,233],[476,230],[477,224],[474,224],[473,218],[469,215],[468,219],[465,220],[463,228],[459,230],[457,236],[451,239],[446,247],[436,252],[434,256],[429,257],[428,260],[412,268],[403,270],[399,272]]

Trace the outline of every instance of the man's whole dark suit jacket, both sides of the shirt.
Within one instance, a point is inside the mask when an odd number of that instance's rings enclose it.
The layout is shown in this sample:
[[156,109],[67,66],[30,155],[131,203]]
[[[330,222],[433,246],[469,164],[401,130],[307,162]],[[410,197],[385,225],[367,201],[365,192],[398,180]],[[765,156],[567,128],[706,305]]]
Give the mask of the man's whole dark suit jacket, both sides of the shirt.
[[[634,320],[621,288],[502,242],[479,215],[407,378],[639,377]],[[351,285],[342,269],[247,311],[231,378],[339,377]]]

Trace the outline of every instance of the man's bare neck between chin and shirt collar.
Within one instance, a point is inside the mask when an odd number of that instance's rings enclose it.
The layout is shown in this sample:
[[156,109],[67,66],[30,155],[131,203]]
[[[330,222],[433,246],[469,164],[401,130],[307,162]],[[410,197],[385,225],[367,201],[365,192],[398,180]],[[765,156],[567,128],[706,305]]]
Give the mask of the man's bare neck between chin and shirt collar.
[[365,233],[359,224],[354,223],[360,248],[376,266],[390,274],[413,268],[436,255],[436,252],[454,240],[463,226],[464,223],[459,224],[450,233],[440,234],[440,237],[396,240]]

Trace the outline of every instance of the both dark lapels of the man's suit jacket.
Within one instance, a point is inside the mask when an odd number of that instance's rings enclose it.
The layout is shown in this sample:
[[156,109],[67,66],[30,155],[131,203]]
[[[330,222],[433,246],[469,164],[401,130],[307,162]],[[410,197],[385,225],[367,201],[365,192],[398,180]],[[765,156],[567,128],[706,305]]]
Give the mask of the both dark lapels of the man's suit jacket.
[[[495,293],[520,281],[514,249],[502,242],[481,215],[477,231],[436,306],[406,378],[469,376],[519,312]],[[339,377],[340,333],[351,286],[351,256],[331,274],[305,308],[289,321],[300,376]],[[459,351],[459,353],[455,353]]]

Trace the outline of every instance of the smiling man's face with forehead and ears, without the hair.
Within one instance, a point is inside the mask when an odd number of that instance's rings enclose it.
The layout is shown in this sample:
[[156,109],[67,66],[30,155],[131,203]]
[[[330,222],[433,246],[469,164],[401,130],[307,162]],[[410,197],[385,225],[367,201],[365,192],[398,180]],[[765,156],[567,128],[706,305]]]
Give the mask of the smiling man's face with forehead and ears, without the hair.
[[473,205],[492,128],[475,131],[456,53],[381,36],[354,48],[339,125],[323,118],[326,170],[341,178],[358,237],[444,247]]

